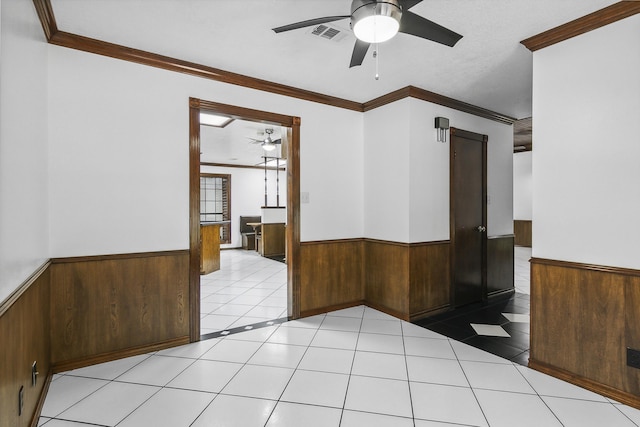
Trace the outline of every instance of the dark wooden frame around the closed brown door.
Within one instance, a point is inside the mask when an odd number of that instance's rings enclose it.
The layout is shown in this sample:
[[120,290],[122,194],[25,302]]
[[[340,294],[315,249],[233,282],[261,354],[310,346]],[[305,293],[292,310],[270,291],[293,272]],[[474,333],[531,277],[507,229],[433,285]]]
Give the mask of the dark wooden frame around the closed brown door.
[[[450,129],[450,138],[449,138],[449,241],[450,249],[450,271],[449,275],[451,277],[451,291],[450,291],[450,306],[451,308],[455,308],[455,266],[456,266],[456,222],[455,222],[455,206],[454,206],[454,150],[453,150],[453,138],[462,137],[465,139],[471,139],[474,141],[478,141],[482,144],[482,225],[487,227],[487,142],[489,137],[487,135],[482,135],[475,132],[470,132],[462,129],[457,129],[452,127]],[[488,231],[488,230],[487,230]],[[481,272],[481,292],[482,292],[482,301],[487,301],[487,231],[485,231],[482,235],[482,272]]]

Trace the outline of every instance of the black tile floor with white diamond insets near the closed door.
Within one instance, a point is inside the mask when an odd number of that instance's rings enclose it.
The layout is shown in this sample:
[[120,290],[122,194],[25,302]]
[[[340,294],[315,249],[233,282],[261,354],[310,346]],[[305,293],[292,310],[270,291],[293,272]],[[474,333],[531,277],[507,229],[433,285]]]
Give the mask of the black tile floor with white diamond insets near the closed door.
[[[511,321],[506,314],[524,315]],[[472,304],[415,322],[449,338],[509,359],[520,365],[529,362],[529,295],[514,293],[510,297]],[[471,325],[500,326],[494,332],[478,332]],[[505,333],[506,332],[506,333]]]

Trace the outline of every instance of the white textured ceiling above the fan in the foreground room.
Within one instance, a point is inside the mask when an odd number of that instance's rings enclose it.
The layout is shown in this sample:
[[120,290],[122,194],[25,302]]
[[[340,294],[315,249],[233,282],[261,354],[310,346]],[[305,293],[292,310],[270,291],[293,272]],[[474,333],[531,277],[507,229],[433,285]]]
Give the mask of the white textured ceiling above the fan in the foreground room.
[[349,69],[339,42],[271,28],[348,15],[351,0],[52,0],[58,28],[99,40],[365,102],[412,85],[515,118],[531,115],[531,52],[520,41],[612,0],[424,0],[411,9],[463,38],[453,48],[406,34]]

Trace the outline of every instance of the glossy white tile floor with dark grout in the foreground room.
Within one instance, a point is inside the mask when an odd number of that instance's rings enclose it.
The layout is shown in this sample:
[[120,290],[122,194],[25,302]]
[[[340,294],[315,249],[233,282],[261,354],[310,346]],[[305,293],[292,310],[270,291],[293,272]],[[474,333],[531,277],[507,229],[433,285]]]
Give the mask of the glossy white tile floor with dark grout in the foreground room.
[[640,411],[358,306],[55,375],[39,425],[637,427]]

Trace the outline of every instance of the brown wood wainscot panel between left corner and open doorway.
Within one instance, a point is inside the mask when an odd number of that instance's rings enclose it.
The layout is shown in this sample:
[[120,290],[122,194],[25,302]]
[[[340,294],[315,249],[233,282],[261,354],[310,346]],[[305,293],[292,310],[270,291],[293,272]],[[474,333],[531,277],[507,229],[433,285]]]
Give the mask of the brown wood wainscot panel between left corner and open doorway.
[[188,283],[187,251],[53,260],[54,367],[188,341]]

